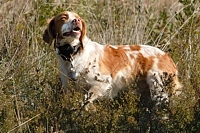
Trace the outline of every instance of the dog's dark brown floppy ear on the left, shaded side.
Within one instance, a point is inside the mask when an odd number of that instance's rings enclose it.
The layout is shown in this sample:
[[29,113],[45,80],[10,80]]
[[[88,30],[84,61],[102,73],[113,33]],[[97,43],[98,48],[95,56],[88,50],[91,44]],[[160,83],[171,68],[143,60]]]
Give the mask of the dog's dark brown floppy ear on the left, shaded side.
[[55,22],[54,19],[48,20],[48,27],[45,29],[43,33],[43,40],[51,44],[53,39],[56,38],[56,31],[55,31]]

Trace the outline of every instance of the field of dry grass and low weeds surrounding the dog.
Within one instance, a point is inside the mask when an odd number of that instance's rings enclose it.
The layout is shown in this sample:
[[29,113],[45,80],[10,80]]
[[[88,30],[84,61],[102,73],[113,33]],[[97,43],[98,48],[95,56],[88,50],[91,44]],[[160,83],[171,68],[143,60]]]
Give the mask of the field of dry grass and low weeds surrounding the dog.
[[[1,0],[0,132],[199,132],[199,7],[199,0]],[[184,87],[171,98],[169,120],[157,118],[163,110],[148,110],[136,85],[96,101],[96,112],[82,108],[85,84],[61,89],[53,46],[42,34],[64,10],[78,13],[96,42],[147,44],[171,55]]]

